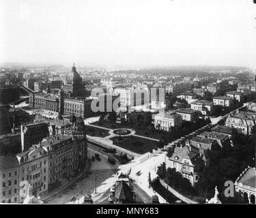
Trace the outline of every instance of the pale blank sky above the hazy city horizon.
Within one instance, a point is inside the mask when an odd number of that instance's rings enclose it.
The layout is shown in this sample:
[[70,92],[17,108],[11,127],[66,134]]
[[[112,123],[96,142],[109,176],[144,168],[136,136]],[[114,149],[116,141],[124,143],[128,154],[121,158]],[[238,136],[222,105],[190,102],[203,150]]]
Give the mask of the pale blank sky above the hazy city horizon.
[[1,0],[0,63],[256,69],[252,0]]

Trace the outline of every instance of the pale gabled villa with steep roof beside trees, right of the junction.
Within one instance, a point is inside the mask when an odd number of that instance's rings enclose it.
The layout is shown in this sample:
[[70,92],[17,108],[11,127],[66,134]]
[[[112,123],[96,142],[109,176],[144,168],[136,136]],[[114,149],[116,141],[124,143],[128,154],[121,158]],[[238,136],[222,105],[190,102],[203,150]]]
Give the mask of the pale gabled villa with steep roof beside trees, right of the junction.
[[203,149],[186,144],[186,146],[176,146],[169,161],[170,168],[175,168],[190,181],[191,185],[195,185],[203,168],[207,165],[208,158]]

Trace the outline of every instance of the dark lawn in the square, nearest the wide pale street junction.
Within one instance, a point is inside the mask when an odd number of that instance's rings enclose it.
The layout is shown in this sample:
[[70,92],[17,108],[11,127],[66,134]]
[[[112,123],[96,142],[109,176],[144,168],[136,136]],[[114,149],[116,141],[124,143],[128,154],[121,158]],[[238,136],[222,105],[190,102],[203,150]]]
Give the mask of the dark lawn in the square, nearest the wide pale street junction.
[[137,136],[128,136],[124,138],[119,138],[119,136],[111,138],[113,144],[132,151],[134,153],[144,154],[157,147],[158,142],[153,140],[148,140],[145,138],[140,138]]

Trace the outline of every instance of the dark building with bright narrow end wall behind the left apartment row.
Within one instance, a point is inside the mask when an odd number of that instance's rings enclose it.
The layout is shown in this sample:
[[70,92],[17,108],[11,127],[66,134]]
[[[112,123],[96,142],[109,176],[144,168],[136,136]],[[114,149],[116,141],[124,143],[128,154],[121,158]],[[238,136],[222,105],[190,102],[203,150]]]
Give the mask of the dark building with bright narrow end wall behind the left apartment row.
[[20,126],[22,152],[27,151],[32,144],[38,144],[49,134],[48,123],[28,123]]

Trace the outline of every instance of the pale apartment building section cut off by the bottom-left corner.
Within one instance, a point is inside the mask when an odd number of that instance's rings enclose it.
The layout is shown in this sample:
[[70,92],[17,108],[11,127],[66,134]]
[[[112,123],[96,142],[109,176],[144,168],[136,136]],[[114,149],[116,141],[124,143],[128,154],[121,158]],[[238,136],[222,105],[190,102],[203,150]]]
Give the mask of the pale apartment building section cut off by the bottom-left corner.
[[19,164],[15,155],[0,157],[0,203],[19,202]]

